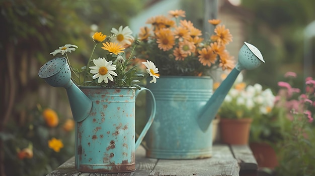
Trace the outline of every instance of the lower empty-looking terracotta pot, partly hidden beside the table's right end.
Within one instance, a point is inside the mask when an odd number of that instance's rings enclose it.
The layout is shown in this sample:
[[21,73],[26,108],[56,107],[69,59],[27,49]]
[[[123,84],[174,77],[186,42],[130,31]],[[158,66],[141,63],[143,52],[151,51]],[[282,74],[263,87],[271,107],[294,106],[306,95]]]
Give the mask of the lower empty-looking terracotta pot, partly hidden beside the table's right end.
[[250,147],[259,167],[268,167],[273,169],[278,166],[278,159],[275,150],[268,143],[252,142]]

